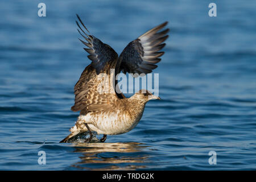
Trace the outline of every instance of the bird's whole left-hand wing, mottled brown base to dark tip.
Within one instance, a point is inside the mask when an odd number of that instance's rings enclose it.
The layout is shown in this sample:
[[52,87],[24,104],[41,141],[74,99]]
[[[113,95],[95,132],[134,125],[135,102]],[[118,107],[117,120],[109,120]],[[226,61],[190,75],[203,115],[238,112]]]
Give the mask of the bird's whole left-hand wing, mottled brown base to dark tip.
[[[85,30],[88,31],[78,15],[77,18]],[[107,44],[102,43],[93,35],[86,34],[78,22],[77,26],[85,35],[79,31],[80,34],[88,41],[81,40],[88,47],[84,49],[90,53],[88,57],[92,60],[92,63],[84,69],[75,85],[75,105],[71,107],[71,110],[100,111],[109,109],[112,107],[113,100],[117,98],[115,93],[109,92],[109,90],[113,90],[113,85],[110,84],[113,77],[113,74],[110,73],[110,65],[117,62],[118,55]],[[100,73],[105,73],[105,77]]]

